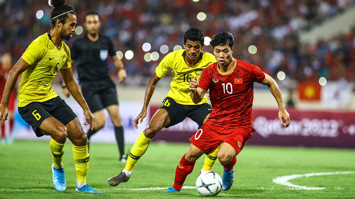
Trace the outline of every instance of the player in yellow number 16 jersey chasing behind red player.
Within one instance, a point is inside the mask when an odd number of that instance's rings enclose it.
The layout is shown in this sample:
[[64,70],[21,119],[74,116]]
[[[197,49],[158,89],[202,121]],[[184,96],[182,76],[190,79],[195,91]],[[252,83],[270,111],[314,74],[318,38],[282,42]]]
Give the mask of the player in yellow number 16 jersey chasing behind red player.
[[[196,105],[191,100],[189,85],[191,78],[196,76],[199,79],[202,70],[216,62],[216,60],[211,53],[202,51],[204,35],[197,28],[190,28],[185,32],[183,46],[185,49],[171,52],[164,57],[156,68],[154,76],[150,79],[145,91],[142,111],[133,121],[133,125],[136,128],[138,128],[138,123],[142,123],[142,120],[147,115],[147,107],[156,84],[169,70],[173,74],[173,81],[170,84],[171,90],[163,100],[161,107],[152,117],[148,127],[134,143],[123,171],[108,179],[107,183],[109,185],[116,186],[129,180],[133,167],[147,150],[152,138],[163,127],[168,128],[180,123],[186,117],[191,118],[200,127],[210,115],[212,107],[207,103],[207,98],[204,97]],[[218,149],[206,156],[205,164],[201,171],[211,170],[216,160],[217,151]]]

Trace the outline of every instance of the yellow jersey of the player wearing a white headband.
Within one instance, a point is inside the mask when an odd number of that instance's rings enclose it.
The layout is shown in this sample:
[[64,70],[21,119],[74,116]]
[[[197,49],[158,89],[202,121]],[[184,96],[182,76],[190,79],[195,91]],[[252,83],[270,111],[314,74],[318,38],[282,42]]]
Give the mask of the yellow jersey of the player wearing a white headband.
[[63,41],[59,50],[54,46],[50,33],[37,37],[21,57],[30,66],[22,73],[18,107],[58,96],[53,91],[52,82],[61,68],[71,67],[70,56],[70,49]]

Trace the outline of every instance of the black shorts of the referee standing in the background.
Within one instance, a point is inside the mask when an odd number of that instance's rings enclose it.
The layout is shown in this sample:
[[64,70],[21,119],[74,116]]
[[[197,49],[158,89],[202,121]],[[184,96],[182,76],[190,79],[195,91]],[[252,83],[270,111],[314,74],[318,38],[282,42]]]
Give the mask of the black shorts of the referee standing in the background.
[[92,85],[82,83],[81,90],[92,113],[110,105],[118,105],[116,86],[97,90]]

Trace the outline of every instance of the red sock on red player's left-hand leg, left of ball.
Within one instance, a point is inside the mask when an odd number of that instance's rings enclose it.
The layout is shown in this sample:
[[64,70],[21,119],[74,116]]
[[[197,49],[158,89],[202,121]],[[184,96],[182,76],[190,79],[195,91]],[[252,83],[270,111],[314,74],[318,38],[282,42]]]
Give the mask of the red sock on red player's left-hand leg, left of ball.
[[188,161],[185,158],[186,153],[184,156],[182,156],[179,164],[177,165],[176,171],[175,171],[175,182],[173,187],[176,188],[177,190],[181,190],[182,185],[184,184],[187,175],[189,175],[192,170],[194,169],[195,162]]

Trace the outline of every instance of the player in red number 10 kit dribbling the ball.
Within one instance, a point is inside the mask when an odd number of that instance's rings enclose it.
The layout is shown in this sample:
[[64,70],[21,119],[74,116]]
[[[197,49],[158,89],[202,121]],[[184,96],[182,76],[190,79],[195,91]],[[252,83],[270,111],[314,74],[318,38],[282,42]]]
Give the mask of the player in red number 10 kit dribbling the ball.
[[190,138],[190,149],[185,153],[176,169],[175,183],[166,191],[177,192],[182,188],[188,174],[194,169],[195,161],[203,154],[212,153],[222,143],[217,158],[224,167],[222,190],[229,190],[233,184],[236,155],[251,138],[253,82],[266,85],[280,108],[279,119],[287,127],[290,117],[275,80],[258,66],[232,57],[233,35],[220,32],[213,36],[211,45],[216,63],[202,71],[198,82],[194,77],[190,83],[190,95],[198,103],[210,90],[213,111],[207,122]]

